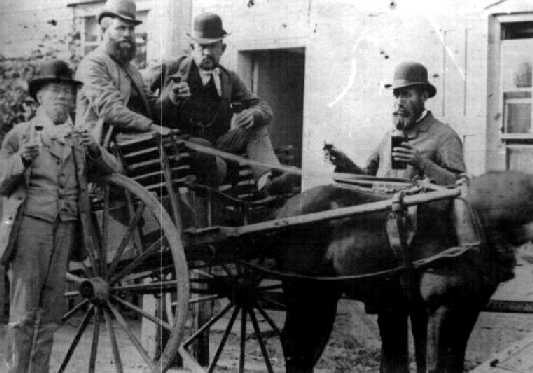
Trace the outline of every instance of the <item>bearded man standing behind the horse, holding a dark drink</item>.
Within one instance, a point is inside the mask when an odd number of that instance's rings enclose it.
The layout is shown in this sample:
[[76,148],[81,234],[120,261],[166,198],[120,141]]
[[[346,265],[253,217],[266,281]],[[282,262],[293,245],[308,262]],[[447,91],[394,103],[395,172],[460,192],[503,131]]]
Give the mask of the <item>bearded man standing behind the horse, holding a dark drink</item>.
[[[453,184],[464,173],[463,146],[457,133],[426,110],[425,102],[437,89],[428,81],[428,72],[418,62],[400,63],[394,71],[393,123],[404,140],[392,147],[388,132],[370,156],[365,168],[358,167],[343,152],[332,149],[330,159],[336,172],[353,172],[379,177],[427,177],[440,185]],[[405,167],[394,168],[393,161]]]

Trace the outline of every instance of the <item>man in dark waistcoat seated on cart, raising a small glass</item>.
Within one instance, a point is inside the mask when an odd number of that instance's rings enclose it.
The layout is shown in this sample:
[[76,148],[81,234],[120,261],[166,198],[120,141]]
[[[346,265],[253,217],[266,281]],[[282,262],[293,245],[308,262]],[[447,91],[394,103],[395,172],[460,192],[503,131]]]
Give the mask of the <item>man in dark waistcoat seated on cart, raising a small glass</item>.
[[[152,92],[161,95],[162,124],[219,150],[246,153],[252,160],[278,165],[267,131],[271,108],[235,72],[219,64],[228,35],[222,19],[214,13],[199,14],[187,35],[191,55],[158,66],[149,79]],[[216,159],[216,166],[218,181],[222,181],[226,164]],[[274,190],[268,167],[252,171],[259,189]]]

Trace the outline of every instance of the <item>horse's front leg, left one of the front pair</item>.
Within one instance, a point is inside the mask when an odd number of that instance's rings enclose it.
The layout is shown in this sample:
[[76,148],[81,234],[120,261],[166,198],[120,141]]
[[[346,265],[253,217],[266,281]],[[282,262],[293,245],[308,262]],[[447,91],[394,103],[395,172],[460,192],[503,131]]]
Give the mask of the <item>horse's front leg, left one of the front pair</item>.
[[381,335],[381,373],[408,373],[407,316],[403,308],[381,310],[378,313]]

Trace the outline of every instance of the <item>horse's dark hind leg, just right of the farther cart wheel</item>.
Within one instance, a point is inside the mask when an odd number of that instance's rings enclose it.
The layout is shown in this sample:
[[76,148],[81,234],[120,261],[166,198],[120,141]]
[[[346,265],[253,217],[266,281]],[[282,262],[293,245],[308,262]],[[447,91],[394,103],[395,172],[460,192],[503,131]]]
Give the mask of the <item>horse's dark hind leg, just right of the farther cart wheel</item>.
[[329,285],[284,284],[287,299],[281,342],[287,373],[311,373],[329,340],[340,291]]

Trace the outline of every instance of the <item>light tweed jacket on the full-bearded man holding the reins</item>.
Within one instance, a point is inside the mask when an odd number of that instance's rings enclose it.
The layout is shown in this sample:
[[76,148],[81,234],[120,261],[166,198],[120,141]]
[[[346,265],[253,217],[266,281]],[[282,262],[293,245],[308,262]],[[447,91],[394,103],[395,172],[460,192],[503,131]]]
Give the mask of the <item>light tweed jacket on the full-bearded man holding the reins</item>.
[[[150,129],[152,114],[158,113],[157,103],[148,97],[141,74],[131,63],[118,64],[99,46],[80,62],[75,79],[83,83],[77,98],[76,126],[90,129],[100,143],[109,125],[125,132]],[[135,88],[149,117],[127,106]]]

